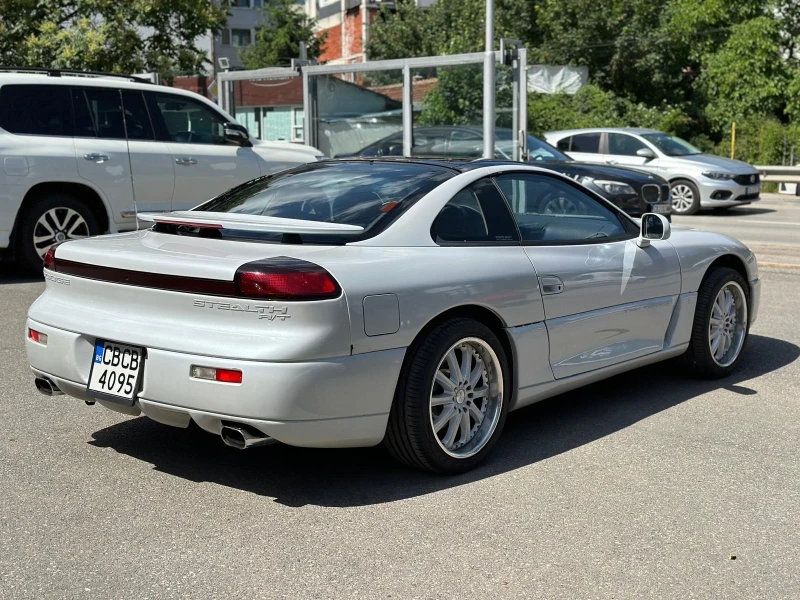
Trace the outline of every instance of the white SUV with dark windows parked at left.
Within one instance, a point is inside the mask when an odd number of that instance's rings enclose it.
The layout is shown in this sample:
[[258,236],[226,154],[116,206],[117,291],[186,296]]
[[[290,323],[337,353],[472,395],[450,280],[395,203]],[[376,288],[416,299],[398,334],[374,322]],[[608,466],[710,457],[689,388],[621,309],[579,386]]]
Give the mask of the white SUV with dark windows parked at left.
[[[322,153],[264,142],[207,99],[134,77],[0,73],[0,252],[134,229]],[[134,201],[136,208],[134,208]]]

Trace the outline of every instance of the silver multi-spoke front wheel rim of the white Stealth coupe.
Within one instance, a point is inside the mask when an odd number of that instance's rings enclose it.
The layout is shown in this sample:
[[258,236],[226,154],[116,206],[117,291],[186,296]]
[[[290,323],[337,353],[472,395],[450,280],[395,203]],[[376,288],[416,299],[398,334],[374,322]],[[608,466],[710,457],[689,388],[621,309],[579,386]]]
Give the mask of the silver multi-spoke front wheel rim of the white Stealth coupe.
[[717,293],[708,323],[711,358],[720,367],[734,363],[747,335],[747,298],[735,281],[726,283]]

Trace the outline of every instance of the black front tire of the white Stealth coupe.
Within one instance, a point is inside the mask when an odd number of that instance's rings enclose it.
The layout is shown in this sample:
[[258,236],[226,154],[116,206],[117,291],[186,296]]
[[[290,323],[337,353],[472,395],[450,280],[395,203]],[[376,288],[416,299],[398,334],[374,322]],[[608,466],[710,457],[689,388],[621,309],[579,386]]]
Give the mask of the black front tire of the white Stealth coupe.
[[[714,352],[715,331],[719,327],[712,327],[712,317],[715,322],[730,323],[729,313],[725,310],[720,312],[719,307],[725,305],[723,289],[731,292],[734,297],[734,310],[732,311],[735,320],[733,325],[727,326],[731,331],[731,339],[728,342],[725,335],[720,336],[717,346],[717,353],[728,344],[729,348],[724,354],[719,356]],[[722,299],[722,303],[715,304]],[[725,313],[720,319],[722,313]],[[725,329],[725,327],[723,327]],[[709,273],[697,294],[697,308],[692,324],[692,337],[689,341],[689,348],[684,355],[685,362],[696,375],[708,379],[725,377],[732,373],[742,358],[744,349],[747,346],[747,339],[750,334],[750,288],[737,271],[727,267],[714,269]]]

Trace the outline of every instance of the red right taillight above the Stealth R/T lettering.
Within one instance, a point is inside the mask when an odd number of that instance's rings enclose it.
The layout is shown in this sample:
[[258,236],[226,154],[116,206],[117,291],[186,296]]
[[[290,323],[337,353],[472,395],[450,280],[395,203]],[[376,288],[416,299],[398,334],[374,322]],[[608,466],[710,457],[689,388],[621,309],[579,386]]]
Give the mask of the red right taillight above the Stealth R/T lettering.
[[242,265],[235,283],[238,297],[261,300],[325,300],[342,293],[339,283],[319,265],[287,257]]

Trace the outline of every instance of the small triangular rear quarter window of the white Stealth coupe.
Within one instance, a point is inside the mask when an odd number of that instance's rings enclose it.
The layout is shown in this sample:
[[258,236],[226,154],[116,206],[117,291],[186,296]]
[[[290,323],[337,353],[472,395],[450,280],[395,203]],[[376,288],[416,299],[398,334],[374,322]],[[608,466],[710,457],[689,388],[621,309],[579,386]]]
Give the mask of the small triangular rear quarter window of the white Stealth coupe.
[[431,237],[438,244],[519,242],[508,206],[489,179],[477,181],[453,196],[433,222]]

